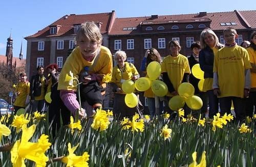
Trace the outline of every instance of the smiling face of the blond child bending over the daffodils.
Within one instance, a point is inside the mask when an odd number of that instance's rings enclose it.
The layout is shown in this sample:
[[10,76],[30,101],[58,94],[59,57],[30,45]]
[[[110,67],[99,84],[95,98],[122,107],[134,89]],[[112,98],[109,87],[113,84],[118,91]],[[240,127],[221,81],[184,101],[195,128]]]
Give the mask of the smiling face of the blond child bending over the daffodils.
[[87,37],[82,36],[78,38],[77,45],[80,47],[81,54],[84,57],[90,57],[91,55],[95,54],[99,46],[99,42],[89,40]]

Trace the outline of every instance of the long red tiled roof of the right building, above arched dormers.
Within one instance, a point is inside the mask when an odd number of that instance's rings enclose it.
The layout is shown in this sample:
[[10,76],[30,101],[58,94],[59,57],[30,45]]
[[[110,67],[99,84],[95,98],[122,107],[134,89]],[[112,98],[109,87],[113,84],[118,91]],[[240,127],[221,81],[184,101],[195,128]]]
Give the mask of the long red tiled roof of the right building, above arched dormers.
[[[247,13],[249,11],[243,11]],[[251,13],[250,13],[251,14]],[[250,15],[248,14],[248,15]],[[250,17],[255,16],[251,14]],[[138,27],[140,24],[179,24],[179,22],[191,22],[192,20],[211,20],[210,28],[212,30],[223,30],[226,26],[221,26],[221,22],[236,22],[237,25],[232,25],[234,29],[247,29],[246,23],[239,17],[236,11],[232,12],[216,12],[206,13],[205,15],[200,14],[180,14],[180,15],[163,15],[157,17],[145,16],[145,17],[130,17],[130,18],[116,18],[114,25],[110,31],[110,35],[126,35],[126,34],[138,34],[140,30],[123,31],[124,27]],[[252,19],[252,22],[255,18]]]

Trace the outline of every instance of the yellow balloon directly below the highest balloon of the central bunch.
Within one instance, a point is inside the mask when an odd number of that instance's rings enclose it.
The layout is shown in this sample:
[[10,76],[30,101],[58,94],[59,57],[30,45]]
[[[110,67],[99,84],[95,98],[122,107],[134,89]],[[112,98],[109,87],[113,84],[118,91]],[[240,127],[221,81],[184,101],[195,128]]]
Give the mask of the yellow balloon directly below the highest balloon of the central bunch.
[[153,80],[151,89],[153,93],[159,97],[163,97],[168,93],[168,88],[166,84],[161,80]]

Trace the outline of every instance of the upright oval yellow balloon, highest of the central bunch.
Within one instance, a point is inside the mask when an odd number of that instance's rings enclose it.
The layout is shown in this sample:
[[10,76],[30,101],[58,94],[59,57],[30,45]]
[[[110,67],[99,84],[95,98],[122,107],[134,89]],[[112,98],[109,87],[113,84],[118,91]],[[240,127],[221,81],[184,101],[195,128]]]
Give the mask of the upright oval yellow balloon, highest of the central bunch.
[[147,65],[146,73],[151,80],[155,80],[161,74],[161,65],[160,63],[153,61]]

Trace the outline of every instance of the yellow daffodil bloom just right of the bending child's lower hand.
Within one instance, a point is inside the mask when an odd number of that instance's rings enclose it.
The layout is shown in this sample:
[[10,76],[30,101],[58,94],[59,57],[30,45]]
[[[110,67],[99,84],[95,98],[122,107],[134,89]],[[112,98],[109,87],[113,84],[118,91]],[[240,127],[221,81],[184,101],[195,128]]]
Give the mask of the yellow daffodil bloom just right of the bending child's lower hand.
[[100,131],[108,129],[110,124],[108,114],[106,114],[105,110],[97,109],[96,114],[93,117],[93,123],[91,127],[93,129],[99,129]]

